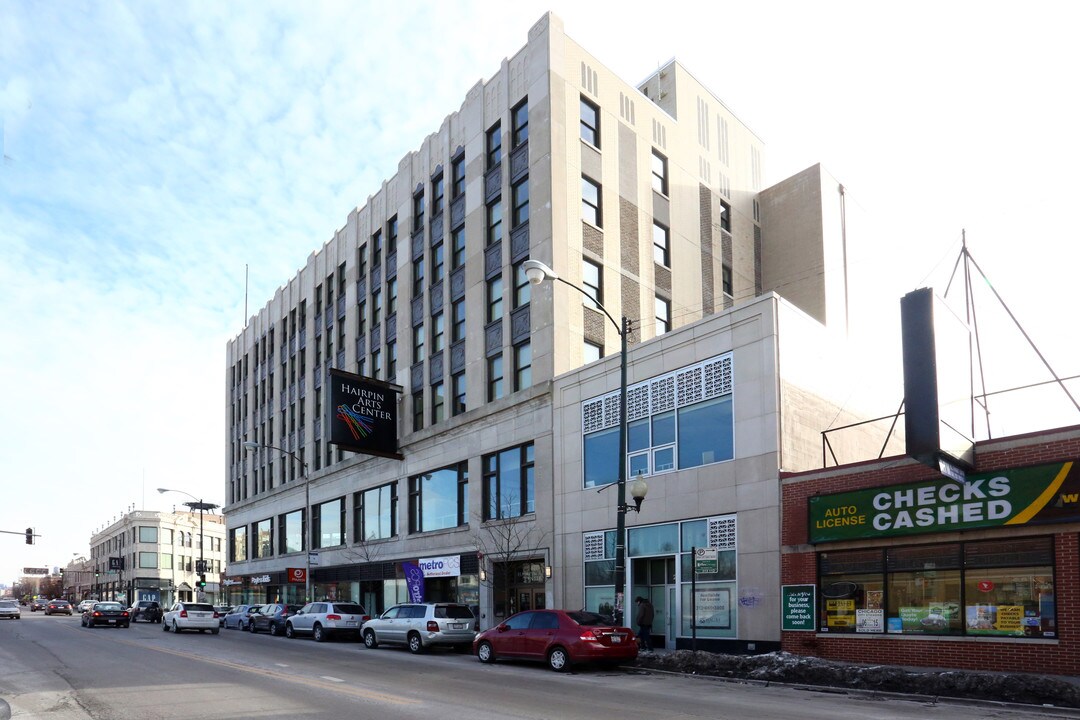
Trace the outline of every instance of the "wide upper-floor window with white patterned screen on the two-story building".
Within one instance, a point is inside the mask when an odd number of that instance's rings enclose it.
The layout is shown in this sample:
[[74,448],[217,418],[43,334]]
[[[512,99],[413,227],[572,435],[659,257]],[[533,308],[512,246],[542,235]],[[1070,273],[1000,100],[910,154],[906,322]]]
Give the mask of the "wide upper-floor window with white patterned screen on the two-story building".
[[[635,395],[646,399],[626,424],[627,477],[734,457],[730,355],[632,385],[627,396]],[[610,404],[618,396],[616,392],[582,403],[586,488],[618,479],[619,423],[603,411],[605,400]]]

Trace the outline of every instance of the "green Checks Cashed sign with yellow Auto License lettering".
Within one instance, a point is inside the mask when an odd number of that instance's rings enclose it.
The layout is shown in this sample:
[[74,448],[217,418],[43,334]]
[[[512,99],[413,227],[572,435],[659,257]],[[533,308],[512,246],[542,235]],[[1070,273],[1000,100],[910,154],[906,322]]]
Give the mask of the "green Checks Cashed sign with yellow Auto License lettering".
[[1072,462],[810,498],[810,542],[1080,520]]

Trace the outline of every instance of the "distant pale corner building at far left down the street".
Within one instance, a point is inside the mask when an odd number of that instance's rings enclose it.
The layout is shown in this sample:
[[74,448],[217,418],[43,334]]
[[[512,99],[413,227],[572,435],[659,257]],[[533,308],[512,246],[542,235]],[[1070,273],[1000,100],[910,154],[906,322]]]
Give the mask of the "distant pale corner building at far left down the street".
[[[91,536],[90,558],[72,563],[71,583],[76,599],[215,601],[225,557],[220,515],[132,510]],[[207,568],[205,587],[199,586],[200,559]]]

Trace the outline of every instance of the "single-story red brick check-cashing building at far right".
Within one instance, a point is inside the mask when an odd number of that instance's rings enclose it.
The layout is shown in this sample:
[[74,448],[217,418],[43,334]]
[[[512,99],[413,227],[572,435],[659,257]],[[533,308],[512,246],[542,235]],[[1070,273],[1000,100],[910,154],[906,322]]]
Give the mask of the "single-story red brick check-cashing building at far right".
[[1080,675],[1080,426],[975,461],[963,483],[906,457],[782,474],[783,649]]

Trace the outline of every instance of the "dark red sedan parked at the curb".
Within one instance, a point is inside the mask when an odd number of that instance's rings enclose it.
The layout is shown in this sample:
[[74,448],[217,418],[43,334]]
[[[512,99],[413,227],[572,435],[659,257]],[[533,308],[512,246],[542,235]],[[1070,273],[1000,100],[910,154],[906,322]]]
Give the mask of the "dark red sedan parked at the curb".
[[499,657],[548,663],[563,671],[577,663],[620,664],[637,657],[637,638],[629,627],[583,610],[526,610],[484,630],[473,641],[482,663]]

